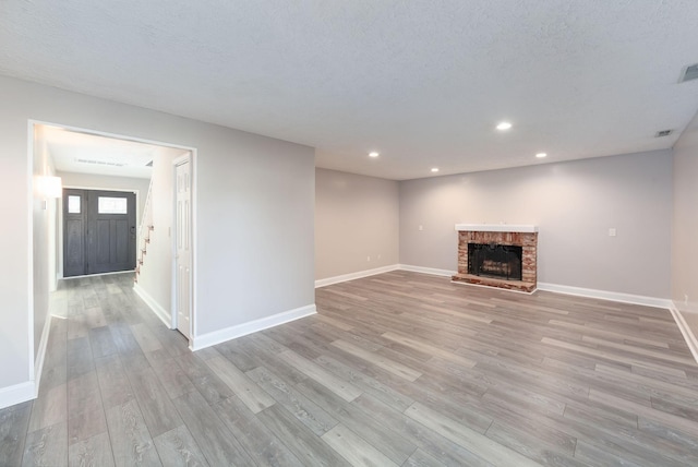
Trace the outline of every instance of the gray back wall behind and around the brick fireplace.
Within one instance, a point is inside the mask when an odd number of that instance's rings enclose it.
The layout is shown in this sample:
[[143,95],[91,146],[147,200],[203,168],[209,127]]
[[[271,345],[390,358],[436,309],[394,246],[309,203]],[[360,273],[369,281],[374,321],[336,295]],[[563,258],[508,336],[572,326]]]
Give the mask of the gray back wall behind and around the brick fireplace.
[[457,223],[535,224],[540,283],[669,298],[671,217],[671,151],[404,181],[400,263],[456,271]]

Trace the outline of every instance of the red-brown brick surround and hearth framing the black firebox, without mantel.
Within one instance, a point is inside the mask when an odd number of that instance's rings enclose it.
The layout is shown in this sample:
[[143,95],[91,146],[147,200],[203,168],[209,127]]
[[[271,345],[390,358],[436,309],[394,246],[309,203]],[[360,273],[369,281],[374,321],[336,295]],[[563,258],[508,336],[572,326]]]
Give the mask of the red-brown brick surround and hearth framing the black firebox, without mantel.
[[[521,280],[504,280],[468,274],[468,243],[496,243],[521,247]],[[538,232],[466,231],[458,232],[458,274],[454,282],[532,292],[538,284]]]

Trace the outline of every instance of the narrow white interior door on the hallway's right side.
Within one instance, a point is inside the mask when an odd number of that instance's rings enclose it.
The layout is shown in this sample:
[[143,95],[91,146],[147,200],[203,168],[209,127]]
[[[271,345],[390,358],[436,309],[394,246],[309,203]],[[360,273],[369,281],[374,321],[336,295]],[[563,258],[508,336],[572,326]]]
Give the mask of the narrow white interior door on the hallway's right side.
[[174,255],[176,271],[176,298],[177,298],[177,328],[186,338],[191,337],[191,310],[192,310],[192,254],[191,254],[191,197],[192,177],[191,163],[189,158],[177,163],[176,184],[177,184],[177,212],[176,212],[176,236],[177,253]]

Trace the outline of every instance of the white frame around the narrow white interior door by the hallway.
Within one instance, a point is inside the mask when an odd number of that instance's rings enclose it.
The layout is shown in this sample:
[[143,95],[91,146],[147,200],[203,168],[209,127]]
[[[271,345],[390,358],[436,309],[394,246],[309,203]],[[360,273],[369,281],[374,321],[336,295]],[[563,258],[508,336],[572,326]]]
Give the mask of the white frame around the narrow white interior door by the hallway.
[[177,299],[179,297],[178,295],[178,290],[177,290],[177,167],[182,165],[182,164],[186,164],[189,163],[189,175],[190,175],[190,180],[191,180],[191,190],[190,190],[190,204],[189,204],[189,208],[190,208],[190,219],[191,219],[191,224],[190,224],[190,236],[191,236],[191,247],[190,247],[190,267],[191,267],[191,274],[190,274],[190,279],[189,279],[189,290],[190,290],[190,301],[189,301],[189,348],[192,349],[193,348],[193,343],[194,343],[194,336],[195,334],[195,328],[196,328],[196,320],[195,320],[195,306],[194,303],[196,303],[195,300],[195,290],[194,290],[194,285],[196,284],[196,280],[194,280],[194,274],[195,274],[195,267],[194,267],[194,261],[196,258],[196,253],[195,253],[195,246],[196,246],[196,199],[195,199],[195,194],[196,194],[196,173],[194,170],[194,160],[196,160],[196,158],[194,157],[195,154],[195,149],[190,149],[188,153],[183,154],[182,156],[176,158],[174,160],[172,160],[172,235],[170,236],[170,240],[171,240],[171,251],[172,251],[172,271],[171,271],[171,282],[172,282],[172,316],[171,316],[171,328],[172,330],[177,330],[178,328],[178,320],[177,320],[177,310],[178,310],[178,306],[179,303],[177,302]]

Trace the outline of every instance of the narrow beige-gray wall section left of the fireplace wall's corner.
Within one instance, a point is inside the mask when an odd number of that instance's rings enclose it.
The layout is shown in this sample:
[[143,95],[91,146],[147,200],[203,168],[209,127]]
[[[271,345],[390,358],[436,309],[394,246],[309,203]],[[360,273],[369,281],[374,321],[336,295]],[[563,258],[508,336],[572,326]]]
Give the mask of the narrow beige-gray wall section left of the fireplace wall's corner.
[[315,278],[397,264],[398,213],[398,182],[316,169]]

